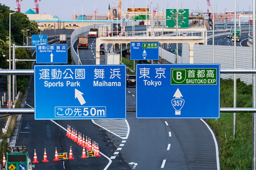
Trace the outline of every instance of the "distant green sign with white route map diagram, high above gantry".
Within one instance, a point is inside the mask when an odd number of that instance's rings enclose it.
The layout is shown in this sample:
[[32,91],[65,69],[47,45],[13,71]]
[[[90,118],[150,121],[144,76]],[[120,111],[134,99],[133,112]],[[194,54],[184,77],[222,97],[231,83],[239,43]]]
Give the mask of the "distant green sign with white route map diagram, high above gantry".
[[[188,28],[188,9],[179,9],[178,28]],[[166,9],[166,28],[176,28],[177,9]]]

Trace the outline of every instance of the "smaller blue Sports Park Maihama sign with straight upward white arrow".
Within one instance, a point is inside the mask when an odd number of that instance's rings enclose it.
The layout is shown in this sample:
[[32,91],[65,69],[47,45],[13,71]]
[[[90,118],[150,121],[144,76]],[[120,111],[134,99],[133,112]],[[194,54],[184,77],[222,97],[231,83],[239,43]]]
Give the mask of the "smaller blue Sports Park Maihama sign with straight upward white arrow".
[[68,45],[36,45],[36,63],[68,63]]

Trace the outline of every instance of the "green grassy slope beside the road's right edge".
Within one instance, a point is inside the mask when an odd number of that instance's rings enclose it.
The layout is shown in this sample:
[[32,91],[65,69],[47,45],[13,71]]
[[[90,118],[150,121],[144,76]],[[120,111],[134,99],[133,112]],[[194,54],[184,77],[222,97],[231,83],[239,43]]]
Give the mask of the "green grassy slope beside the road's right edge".
[[[220,107],[233,107],[234,80],[220,80]],[[237,79],[237,107],[252,107],[252,86]],[[252,168],[252,113],[236,114],[233,139],[233,113],[220,113],[219,119],[207,119],[220,143],[220,169]]]

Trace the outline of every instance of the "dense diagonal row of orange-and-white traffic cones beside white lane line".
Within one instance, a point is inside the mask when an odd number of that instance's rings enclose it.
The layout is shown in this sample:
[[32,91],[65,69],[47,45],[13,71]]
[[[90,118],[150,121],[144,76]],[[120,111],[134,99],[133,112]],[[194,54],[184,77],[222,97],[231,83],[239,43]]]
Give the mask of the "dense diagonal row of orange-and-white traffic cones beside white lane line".
[[82,133],[79,133],[79,132],[77,137],[77,131],[75,131],[75,129],[71,128],[69,125],[67,128],[66,136],[69,139],[76,142],[82,148],[85,148],[87,151],[92,151],[92,150],[95,151],[95,156],[100,157],[99,144],[93,141],[91,142],[91,139],[90,138],[87,139],[87,136],[85,140],[84,135],[82,138]]

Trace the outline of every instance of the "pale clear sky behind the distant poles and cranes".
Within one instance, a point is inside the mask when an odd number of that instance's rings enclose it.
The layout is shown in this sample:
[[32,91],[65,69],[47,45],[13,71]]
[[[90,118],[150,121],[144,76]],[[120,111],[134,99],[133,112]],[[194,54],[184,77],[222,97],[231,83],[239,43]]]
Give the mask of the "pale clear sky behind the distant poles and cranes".
[[[38,0],[39,1],[39,0]],[[236,9],[237,11],[252,11],[252,1],[253,0],[236,0]],[[108,3],[110,3],[110,8],[116,6],[118,1],[110,1],[110,0],[41,0],[39,2],[39,14],[51,14],[52,16],[56,15],[63,20],[70,20],[72,15],[74,15],[74,6],[75,6],[75,14],[82,14],[82,6],[83,6],[83,14],[93,14],[93,11],[98,11],[98,14],[107,14],[108,13]],[[151,3],[153,4],[153,10],[156,10],[158,7],[158,11],[163,11],[163,8],[177,8],[177,1],[168,1],[168,0],[121,0],[122,3],[122,11],[125,8],[134,7],[146,7],[147,2],[149,3],[149,9],[151,10]],[[1,0],[1,4],[5,4],[9,6],[11,10],[17,11],[15,9],[16,1],[15,0]],[[82,5],[83,3],[83,5]],[[95,5],[94,5],[95,3]],[[76,4],[76,5],[75,5]],[[213,9],[213,0],[210,0],[210,4]],[[35,6],[34,0],[22,0],[21,1],[21,12],[25,13],[29,8],[33,9]],[[227,6],[227,8],[226,8]],[[249,7],[250,6],[250,7]],[[178,0],[178,8],[189,8],[189,12],[207,12],[207,0]],[[214,1],[214,12],[224,12],[233,11],[235,8],[234,0],[215,0]]]

